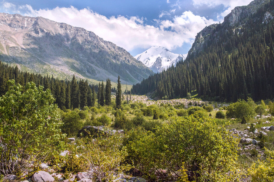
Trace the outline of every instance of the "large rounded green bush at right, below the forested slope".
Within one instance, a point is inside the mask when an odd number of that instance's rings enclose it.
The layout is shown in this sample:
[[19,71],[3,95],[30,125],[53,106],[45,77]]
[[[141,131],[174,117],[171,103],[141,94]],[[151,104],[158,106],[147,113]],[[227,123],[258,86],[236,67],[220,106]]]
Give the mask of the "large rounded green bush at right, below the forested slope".
[[238,100],[235,103],[230,104],[227,106],[226,117],[228,118],[236,118],[243,120],[249,120],[251,117],[255,115],[254,111],[254,102],[245,100]]

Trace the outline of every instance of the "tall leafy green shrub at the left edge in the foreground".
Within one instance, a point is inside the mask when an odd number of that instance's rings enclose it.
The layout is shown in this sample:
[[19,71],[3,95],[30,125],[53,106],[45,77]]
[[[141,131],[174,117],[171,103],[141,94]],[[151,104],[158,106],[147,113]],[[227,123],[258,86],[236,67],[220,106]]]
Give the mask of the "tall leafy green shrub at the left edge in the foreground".
[[25,88],[14,80],[8,85],[0,97],[0,172],[4,175],[25,170],[29,160],[56,153],[63,138],[50,90],[43,91],[33,82]]

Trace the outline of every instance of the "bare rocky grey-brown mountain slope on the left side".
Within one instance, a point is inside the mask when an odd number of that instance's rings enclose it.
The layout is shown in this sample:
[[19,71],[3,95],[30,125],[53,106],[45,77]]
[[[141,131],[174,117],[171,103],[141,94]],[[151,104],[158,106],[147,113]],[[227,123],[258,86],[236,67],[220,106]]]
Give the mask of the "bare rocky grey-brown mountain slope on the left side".
[[22,70],[61,78],[133,84],[153,72],[125,49],[84,28],[42,17],[0,13],[0,60]]

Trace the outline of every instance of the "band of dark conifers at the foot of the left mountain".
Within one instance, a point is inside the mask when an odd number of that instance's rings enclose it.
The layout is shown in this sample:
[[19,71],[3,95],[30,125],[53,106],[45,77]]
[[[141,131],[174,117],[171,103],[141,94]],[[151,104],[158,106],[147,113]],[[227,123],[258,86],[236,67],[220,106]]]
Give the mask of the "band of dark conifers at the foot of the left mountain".
[[116,88],[111,88],[109,79],[106,80],[106,86],[103,82],[95,85],[83,79],[77,81],[75,76],[72,80],[59,80],[53,76],[43,77],[41,74],[23,72],[17,66],[11,67],[0,62],[0,96],[8,91],[7,81],[10,79],[14,79],[15,83],[23,86],[28,82],[34,82],[36,86],[43,86],[44,91],[50,89],[55,103],[62,110],[94,106],[96,99],[102,106],[109,105],[111,92],[116,93]]

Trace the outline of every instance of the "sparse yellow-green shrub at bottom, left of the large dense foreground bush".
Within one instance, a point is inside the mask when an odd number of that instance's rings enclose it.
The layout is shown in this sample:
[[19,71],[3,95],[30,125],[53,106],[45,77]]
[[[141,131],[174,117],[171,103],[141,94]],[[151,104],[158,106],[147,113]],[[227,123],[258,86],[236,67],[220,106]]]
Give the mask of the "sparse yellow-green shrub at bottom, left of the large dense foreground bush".
[[128,154],[119,135],[97,138],[95,142],[86,137],[80,147],[81,156],[93,171],[96,181],[112,181],[115,176],[131,168],[129,164],[124,164]]

